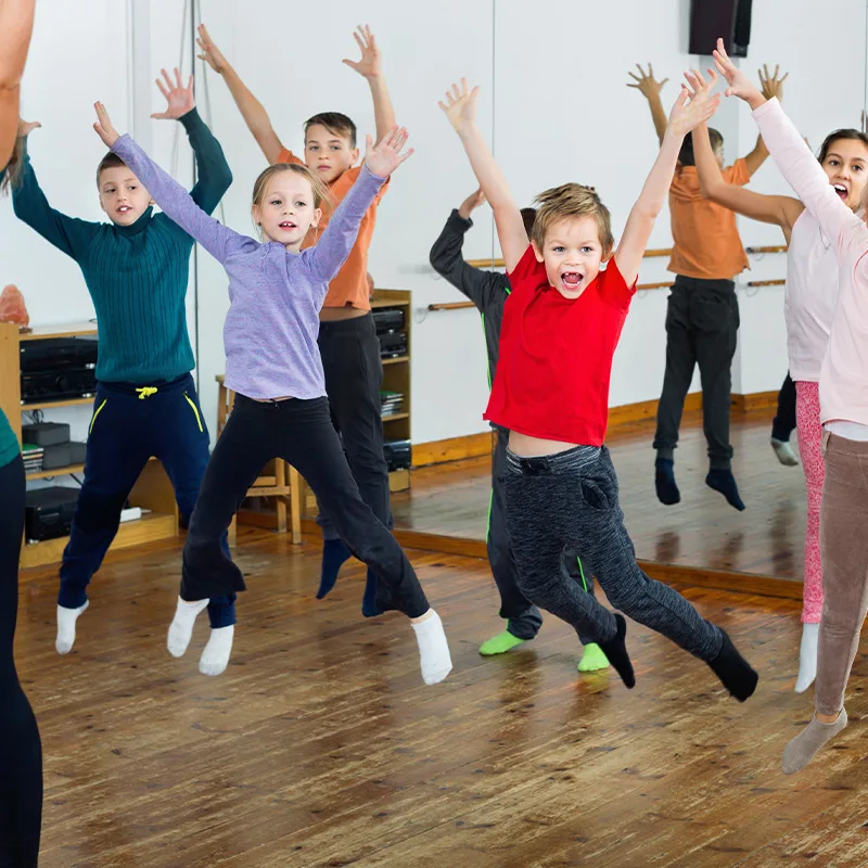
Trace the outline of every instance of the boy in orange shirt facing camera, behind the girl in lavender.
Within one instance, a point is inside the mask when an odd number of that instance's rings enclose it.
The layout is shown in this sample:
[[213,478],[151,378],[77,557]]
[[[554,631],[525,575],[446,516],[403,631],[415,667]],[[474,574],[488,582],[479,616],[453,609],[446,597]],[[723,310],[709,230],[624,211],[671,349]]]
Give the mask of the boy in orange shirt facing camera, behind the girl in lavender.
[[[376,140],[380,141],[395,126],[395,112],[383,76],[380,50],[367,25],[359,27],[353,36],[361,50],[361,60],[344,60],[344,63],[359,73],[371,88]],[[356,165],[359,150],[353,120],[340,112],[314,115],[305,123],[305,151],[304,159],[301,159],[283,146],[265,107],[214,44],[205,25],[200,25],[196,41],[203,52],[200,59],[224,77],[266,159],[270,164],[298,163],[312,169],[329,184],[336,207],[360,170],[360,166]],[[362,500],[383,524],[392,527],[380,400],[383,365],[371,317],[367,275],[368,248],[376,221],[376,207],[386,187],[387,183],[362,218],[356,244],[329,286],[320,312],[318,343],[332,421],[341,434],[353,477],[359,486]],[[317,232],[321,233],[327,225],[328,216],[323,216]],[[317,238],[310,234],[304,246],[310,246],[316,241]],[[337,572],[350,552],[324,515],[320,514],[318,522],[322,527],[323,546],[317,598],[322,599],[334,587]],[[381,614],[376,605],[376,577],[370,571],[361,611],[368,617]]]

